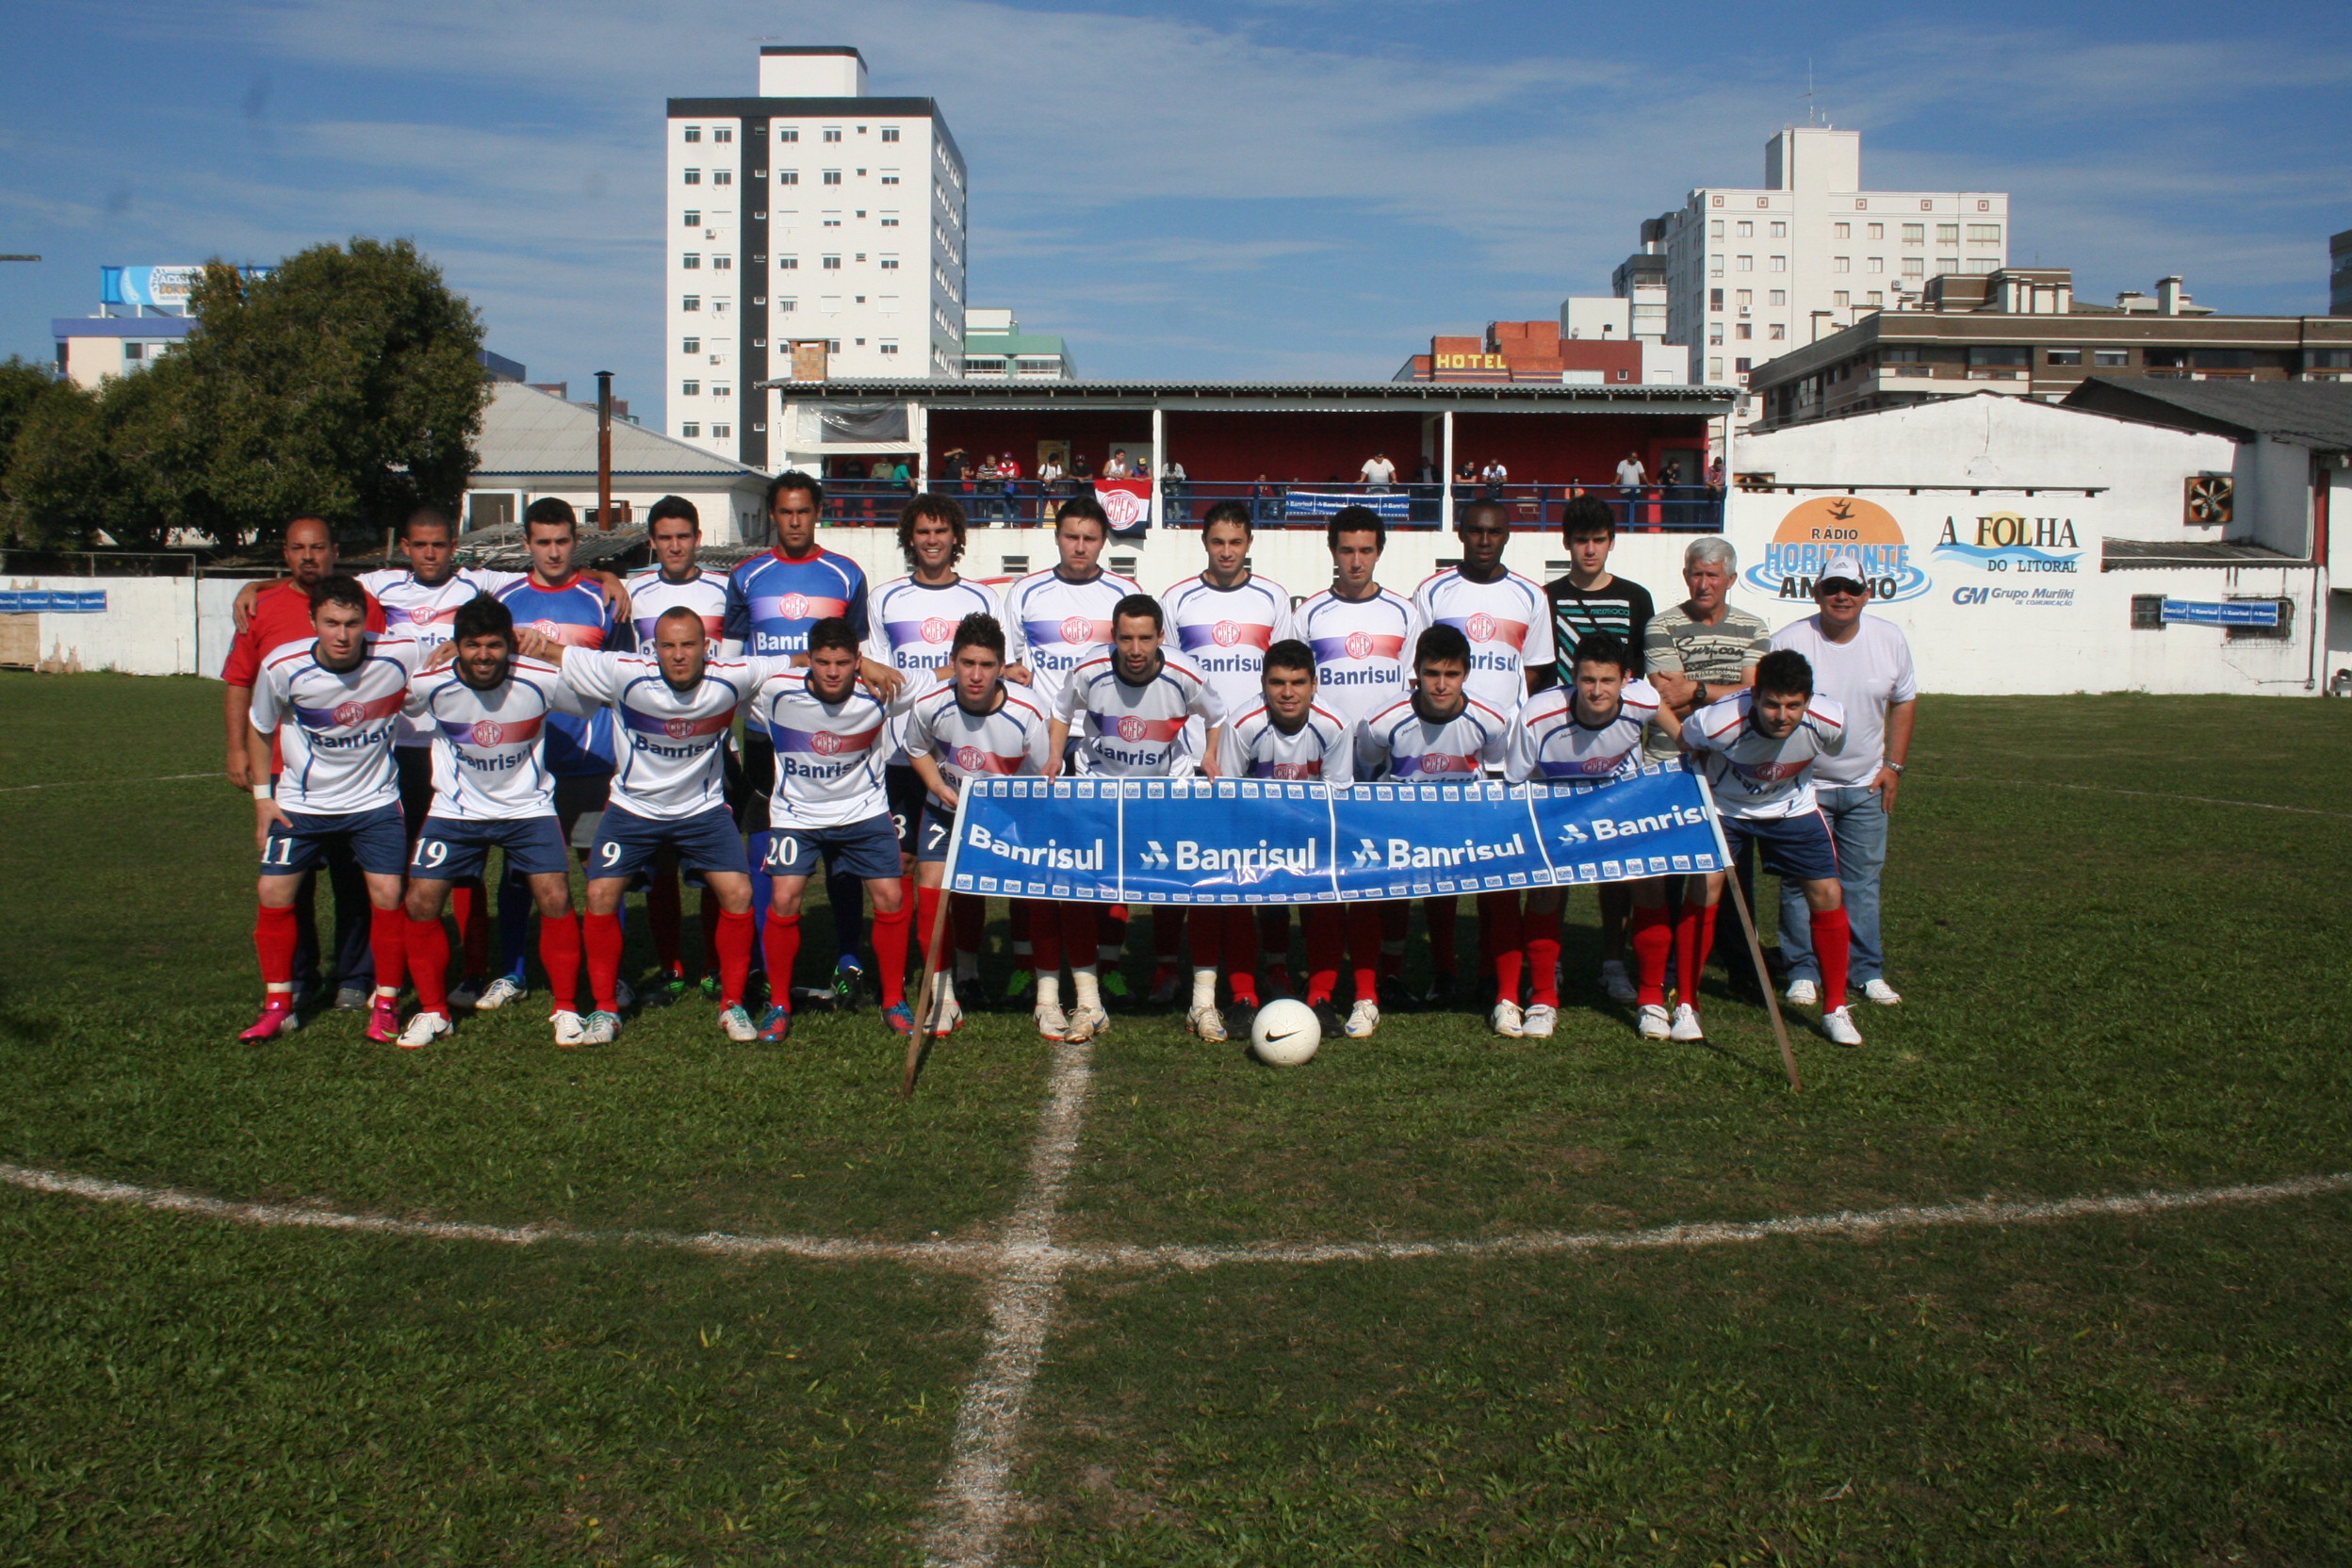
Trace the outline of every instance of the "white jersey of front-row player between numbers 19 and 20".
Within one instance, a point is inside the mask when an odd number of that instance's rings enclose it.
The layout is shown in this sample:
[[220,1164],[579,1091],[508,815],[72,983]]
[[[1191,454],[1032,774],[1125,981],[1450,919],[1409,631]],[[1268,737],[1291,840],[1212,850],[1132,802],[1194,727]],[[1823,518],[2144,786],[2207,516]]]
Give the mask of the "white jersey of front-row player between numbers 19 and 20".
[[612,804],[630,816],[682,820],[727,804],[727,731],[736,708],[783,658],[713,658],[677,691],[652,654],[564,649],[564,682],[621,717]]

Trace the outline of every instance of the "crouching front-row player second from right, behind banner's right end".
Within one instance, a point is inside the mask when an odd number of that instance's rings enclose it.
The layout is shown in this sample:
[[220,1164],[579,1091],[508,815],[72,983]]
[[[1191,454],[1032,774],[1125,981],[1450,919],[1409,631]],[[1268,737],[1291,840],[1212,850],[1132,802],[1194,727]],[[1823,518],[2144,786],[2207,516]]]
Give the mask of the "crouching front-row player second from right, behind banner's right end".
[[[1585,632],[1569,658],[1573,675],[1566,686],[1548,686],[1526,698],[1517,722],[1510,726],[1510,757],[1503,778],[1510,783],[1569,783],[1623,778],[1642,771],[1642,736],[1658,719],[1658,693],[1632,675],[1632,649],[1616,632]],[[1602,884],[1609,893],[1616,884]],[[1665,877],[1632,882],[1628,907],[1635,917],[1635,943],[1656,945],[1658,983],[1665,976]],[[1526,943],[1526,969],[1531,1001],[1519,1032],[1529,1039],[1550,1039],[1559,1023],[1559,905],[1566,893],[1557,886],[1534,889],[1526,896],[1522,917],[1522,940]],[[1517,961],[1503,954],[1498,964],[1501,1001],[1519,1001]],[[1639,992],[1644,1004],[1665,1001],[1665,992]],[[1501,1001],[1498,1009],[1501,1011]],[[1663,1018],[1663,1011],[1661,1011]],[[1696,1039],[1696,1037],[1693,1037]]]

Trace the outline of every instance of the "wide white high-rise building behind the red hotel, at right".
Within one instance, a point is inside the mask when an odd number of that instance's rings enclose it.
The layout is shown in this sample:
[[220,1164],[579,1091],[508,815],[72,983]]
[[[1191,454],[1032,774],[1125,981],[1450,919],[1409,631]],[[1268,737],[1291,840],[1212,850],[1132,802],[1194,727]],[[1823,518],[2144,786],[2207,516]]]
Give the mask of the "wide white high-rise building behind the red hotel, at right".
[[[1748,371],[1872,310],[1917,303],[1940,273],[2009,266],[2009,195],[1863,190],[1863,134],[1792,125],[1764,143],[1764,186],[1703,186],[1642,226],[1665,254],[1668,341],[1691,381]],[[1663,244],[1661,244],[1663,242]]]

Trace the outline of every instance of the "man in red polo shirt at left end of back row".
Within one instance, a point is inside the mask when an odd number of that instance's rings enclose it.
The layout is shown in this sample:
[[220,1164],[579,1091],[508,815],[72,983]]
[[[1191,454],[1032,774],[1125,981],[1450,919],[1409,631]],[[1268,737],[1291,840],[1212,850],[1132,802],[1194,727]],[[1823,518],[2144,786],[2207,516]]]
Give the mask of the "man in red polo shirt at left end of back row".
[[[327,527],[327,520],[318,515],[294,517],[287,524],[285,559],[287,576],[254,595],[252,618],[228,644],[228,661],[221,665],[221,679],[228,682],[228,693],[221,703],[228,719],[228,783],[240,790],[270,783],[254,776],[245,752],[245,738],[254,729],[254,679],[259,679],[261,658],[270,649],[318,635],[310,625],[310,588],[334,571],[334,531]],[[376,604],[374,595],[367,599],[367,630],[383,630],[383,607]],[[273,748],[270,762],[275,764],[275,759],[278,752]],[[376,987],[376,964],[367,950],[367,879],[360,877],[360,865],[348,851],[329,853],[327,879],[334,884],[334,969],[339,980],[334,1004],[360,1011],[369,1004]],[[318,919],[313,914],[315,882],[318,877],[303,877],[301,891],[294,898],[296,997],[320,987]]]

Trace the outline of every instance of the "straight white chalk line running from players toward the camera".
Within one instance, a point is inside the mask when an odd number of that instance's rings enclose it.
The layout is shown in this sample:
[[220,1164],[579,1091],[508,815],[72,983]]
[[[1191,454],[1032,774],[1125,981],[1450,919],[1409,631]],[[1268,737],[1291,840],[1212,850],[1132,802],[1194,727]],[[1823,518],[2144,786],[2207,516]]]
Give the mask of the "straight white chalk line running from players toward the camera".
[[1028,1190],[1004,1225],[1004,1260],[988,1288],[988,1352],[955,1413],[948,1474],[931,1502],[924,1561],[938,1568],[983,1568],[997,1561],[1014,1509],[1011,1467],[1030,1385],[1061,1305],[1063,1269],[1075,1260],[1075,1253],[1054,1246],[1054,1218],[1077,1159],[1077,1133],[1091,1091],[1094,1046],[1056,1044],[1051,1098],[1037,1117]]

